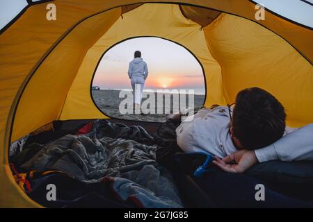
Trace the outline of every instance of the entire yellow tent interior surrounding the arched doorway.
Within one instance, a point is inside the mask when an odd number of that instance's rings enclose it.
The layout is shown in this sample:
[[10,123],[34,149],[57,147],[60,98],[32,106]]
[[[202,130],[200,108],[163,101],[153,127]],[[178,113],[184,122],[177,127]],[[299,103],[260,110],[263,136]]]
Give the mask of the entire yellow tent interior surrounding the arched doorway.
[[[15,183],[10,142],[54,120],[105,117],[90,84],[102,54],[130,37],[162,37],[204,67],[205,105],[232,103],[262,87],[287,110],[289,126],[313,122],[313,31],[254,1],[55,0],[29,6],[0,34],[0,207],[40,207]],[[47,4],[56,20],[46,19]]]

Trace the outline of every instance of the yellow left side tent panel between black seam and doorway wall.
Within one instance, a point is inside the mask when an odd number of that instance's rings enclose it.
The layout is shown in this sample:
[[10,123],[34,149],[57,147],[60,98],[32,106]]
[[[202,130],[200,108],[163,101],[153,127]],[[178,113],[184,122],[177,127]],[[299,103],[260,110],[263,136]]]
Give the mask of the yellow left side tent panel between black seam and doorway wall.
[[[120,17],[120,14],[120,8],[115,8],[91,17],[66,35],[54,51],[47,56],[45,62],[40,65],[29,81],[19,101],[13,126],[13,141],[24,135],[26,131],[33,131],[38,126],[58,119],[67,92],[86,52]],[[87,87],[89,92],[90,85],[88,84]],[[35,97],[37,99],[29,100]],[[38,114],[42,114],[45,110],[49,110],[49,115],[47,113],[45,118],[38,118]],[[26,125],[25,118],[32,121]]]

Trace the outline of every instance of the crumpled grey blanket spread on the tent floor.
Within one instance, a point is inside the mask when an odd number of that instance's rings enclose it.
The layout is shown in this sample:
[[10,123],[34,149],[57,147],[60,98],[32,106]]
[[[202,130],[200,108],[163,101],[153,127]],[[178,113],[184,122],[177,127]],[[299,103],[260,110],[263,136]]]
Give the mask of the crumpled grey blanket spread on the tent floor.
[[90,133],[56,139],[22,167],[63,171],[83,182],[109,180],[122,200],[136,198],[143,207],[182,207],[172,176],[155,160],[156,143],[140,126],[97,120]]

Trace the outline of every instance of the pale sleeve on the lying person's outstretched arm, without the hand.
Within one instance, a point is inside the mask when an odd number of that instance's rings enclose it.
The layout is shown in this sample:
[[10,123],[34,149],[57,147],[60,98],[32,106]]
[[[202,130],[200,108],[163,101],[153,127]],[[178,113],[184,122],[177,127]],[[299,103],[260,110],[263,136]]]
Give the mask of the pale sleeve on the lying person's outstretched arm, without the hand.
[[259,162],[269,160],[313,160],[313,123],[278,139],[277,142],[255,150]]

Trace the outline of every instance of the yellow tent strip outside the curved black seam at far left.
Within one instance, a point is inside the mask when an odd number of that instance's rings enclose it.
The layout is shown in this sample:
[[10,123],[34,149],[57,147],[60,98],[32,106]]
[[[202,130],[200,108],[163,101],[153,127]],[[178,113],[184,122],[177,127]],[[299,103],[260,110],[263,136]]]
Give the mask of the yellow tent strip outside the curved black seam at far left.
[[[9,119],[12,121],[13,110],[10,111],[10,108],[11,105],[17,103],[14,99],[19,91],[19,87],[26,80],[33,67],[40,62],[42,56],[45,56],[45,53],[50,47],[67,30],[72,28],[81,19],[108,9],[108,6],[99,0],[88,2],[83,0],[53,1],[53,3],[56,4],[58,13],[56,21],[47,21],[45,19],[47,12],[46,3],[36,4],[27,8],[22,17],[17,19],[10,28],[0,35],[0,207],[2,205],[11,207],[38,206],[29,200],[24,193],[21,193],[20,189],[16,189],[16,183],[11,177],[10,169],[7,165],[8,138],[10,137],[8,134],[10,130],[6,130],[5,132],[5,128],[6,122]],[[119,15],[120,12],[118,12]],[[40,17],[44,19],[38,19]],[[47,80],[44,83],[48,83]],[[41,85],[45,84],[42,83]],[[47,85],[45,85],[45,89],[47,89]],[[66,92],[64,90],[62,92],[66,96]],[[40,92],[42,95],[44,93]],[[51,99],[52,103],[54,99]],[[33,108],[39,111],[41,104],[38,104]],[[53,118],[56,119],[57,116]],[[25,117],[23,119],[25,121]],[[24,125],[25,122],[22,124]],[[6,139],[4,139],[5,133]]]

